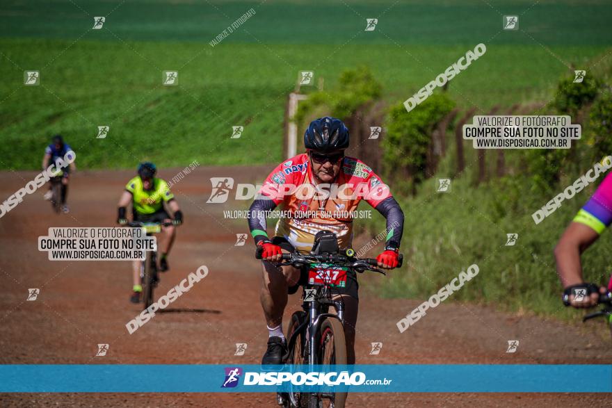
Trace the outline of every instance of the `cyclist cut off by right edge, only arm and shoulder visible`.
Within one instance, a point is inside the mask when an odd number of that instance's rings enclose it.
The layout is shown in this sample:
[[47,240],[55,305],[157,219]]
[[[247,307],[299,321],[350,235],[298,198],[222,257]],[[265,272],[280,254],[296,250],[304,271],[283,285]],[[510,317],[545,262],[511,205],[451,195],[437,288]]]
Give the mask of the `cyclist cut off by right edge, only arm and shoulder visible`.
[[[607,288],[585,282],[581,264],[581,254],[611,224],[612,174],[608,174],[565,229],[554,250],[557,273],[564,289],[563,297],[572,307],[595,307],[600,295],[612,291],[612,277]],[[574,295],[577,290],[583,291],[586,296],[577,298]]]

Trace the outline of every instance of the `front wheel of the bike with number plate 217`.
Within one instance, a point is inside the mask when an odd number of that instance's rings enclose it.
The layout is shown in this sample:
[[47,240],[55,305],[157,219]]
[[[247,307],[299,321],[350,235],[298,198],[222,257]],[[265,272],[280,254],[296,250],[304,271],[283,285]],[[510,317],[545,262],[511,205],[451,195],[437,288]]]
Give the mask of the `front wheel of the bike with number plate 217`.
[[[321,336],[319,337],[319,364],[345,365],[346,364],[346,338],[344,326],[337,318],[326,318],[321,323]],[[316,407],[344,408],[346,393],[332,393],[331,398],[322,398],[321,405]]]

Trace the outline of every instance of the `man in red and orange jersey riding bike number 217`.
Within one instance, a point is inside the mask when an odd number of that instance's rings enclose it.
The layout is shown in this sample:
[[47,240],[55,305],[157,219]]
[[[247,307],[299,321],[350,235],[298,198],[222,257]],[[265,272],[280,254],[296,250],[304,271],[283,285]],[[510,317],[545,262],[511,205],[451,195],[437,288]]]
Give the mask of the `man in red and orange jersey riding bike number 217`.
[[[306,152],[277,165],[266,178],[264,187],[271,185],[299,187],[306,184],[312,186],[352,184],[355,186],[360,183],[371,189],[380,190],[381,186],[386,187],[369,166],[357,158],[344,155],[344,150],[349,145],[349,133],[341,120],[333,117],[313,120],[305,131],[304,145]],[[275,262],[280,261],[283,250],[285,252],[312,250],[315,236],[321,231],[330,231],[335,234],[341,250],[351,248],[353,211],[357,209],[362,197],[351,197],[351,192],[348,192],[344,196],[338,194],[337,197],[327,199],[319,199],[316,195],[302,199],[295,193],[285,195],[266,193],[265,188],[262,188],[260,193],[261,195],[255,199],[248,211],[248,224],[263,260],[263,284],[260,300],[268,328],[268,348],[262,364],[271,365],[281,364],[282,356],[287,352],[287,341],[282,332],[282,315],[287,306],[288,295],[296,293],[307,280],[305,268],[300,270],[293,266],[278,267]],[[385,250],[378,255],[377,261],[379,267],[392,269],[398,266],[404,215],[388,190],[384,199],[378,198],[366,196],[365,201],[387,220],[389,233]],[[265,214],[266,211],[271,211],[278,205],[282,206],[282,210],[291,211],[292,214],[298,211],[312,216],[309,218],[280,218],[275,227],[275,236],[270,239],[266,232],[265,216],[255,214]],[[321,212],[341,215],[328,218],[319,216]],[[348,364],[354,364],[355,361],[355,325],[358,309],[357,279],[355,276],[351,278],[347,279],[346,287],[335,288],[335,296],[344,302],[345,307],[344,329]]]

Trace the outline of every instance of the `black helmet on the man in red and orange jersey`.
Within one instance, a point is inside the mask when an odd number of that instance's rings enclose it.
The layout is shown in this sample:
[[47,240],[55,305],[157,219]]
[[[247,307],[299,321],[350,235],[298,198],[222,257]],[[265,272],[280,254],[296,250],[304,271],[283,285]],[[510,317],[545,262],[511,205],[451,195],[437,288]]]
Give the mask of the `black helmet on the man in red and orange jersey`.
[[331,152],[348,147],[348,129],[335,117],[319,117],[310,122],[304,133],[306,149],[317,152]]

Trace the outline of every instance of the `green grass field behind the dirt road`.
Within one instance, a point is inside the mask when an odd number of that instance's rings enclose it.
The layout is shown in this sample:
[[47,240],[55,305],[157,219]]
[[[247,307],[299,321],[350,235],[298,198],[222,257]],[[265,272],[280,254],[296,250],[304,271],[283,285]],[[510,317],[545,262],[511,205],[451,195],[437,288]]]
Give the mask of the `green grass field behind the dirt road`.
[[[53,133],[81,168],[275,163],[300,70],[329,90],[342,70],[367,65],[385,99],[401,101],[478,42],[487,54],[450,83],[461,107],[547,101],[565,63],[581,67],[612,44],[612,8],[532,4],[57,1],[49,13],[47,2],[4,2],[0,168],[38,168]],[[499,13],[520,15],[521,31],[501,31]],[[104,28],[91,30],[99,15]],[[375,31],[364,31],[367,17],[378,17]],[[24,70],[39,70],[40,86],[23,85]],[[179,85],[161,85],[163,70],[177,70]],[[95,138],[99,125],[111,126],[106,139]],[[240,139],[230,139],[235,125]]]

